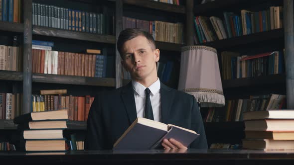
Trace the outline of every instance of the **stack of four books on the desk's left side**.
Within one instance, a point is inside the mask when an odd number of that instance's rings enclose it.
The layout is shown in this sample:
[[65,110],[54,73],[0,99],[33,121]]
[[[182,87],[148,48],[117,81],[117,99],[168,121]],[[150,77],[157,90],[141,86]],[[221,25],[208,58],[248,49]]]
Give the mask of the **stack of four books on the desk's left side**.
[[22,151],[46,152],[70,150],[65,139],[68,110],[31,112],[14,118],[21,132],[19,148]]

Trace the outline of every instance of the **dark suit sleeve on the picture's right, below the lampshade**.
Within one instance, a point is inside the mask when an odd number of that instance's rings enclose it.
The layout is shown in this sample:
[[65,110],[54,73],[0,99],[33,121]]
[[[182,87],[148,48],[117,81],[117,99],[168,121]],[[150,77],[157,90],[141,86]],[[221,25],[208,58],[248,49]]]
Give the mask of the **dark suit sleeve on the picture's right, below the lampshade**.
[[204,130],[204,125],[202,121],[202,116],[200,114],[198,103],[196,102],[195,97],[192,95],[192,114],[191,114],[191,128],[196,133],[200,134],[198,138],[194,140],[194,142],[191,143],[190,148],[193,149],[207,149],[207,140],[206,140],[206,134]]

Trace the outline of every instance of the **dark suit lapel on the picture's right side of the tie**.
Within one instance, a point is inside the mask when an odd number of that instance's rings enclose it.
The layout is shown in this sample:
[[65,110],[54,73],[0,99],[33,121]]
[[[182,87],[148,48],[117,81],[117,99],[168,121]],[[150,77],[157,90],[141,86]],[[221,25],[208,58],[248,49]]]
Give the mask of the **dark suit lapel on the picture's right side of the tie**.
[[160,82],[160,97],[161,97],[161,122],[168,124],[169,112],[171,103],[174,99],[174,92],[171,89]]

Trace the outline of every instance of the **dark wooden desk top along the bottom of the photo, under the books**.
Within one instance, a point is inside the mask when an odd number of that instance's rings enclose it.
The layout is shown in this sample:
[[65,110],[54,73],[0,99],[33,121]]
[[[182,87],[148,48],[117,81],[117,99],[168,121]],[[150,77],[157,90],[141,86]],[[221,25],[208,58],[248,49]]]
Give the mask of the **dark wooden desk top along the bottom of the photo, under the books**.
[[294,165],[294,151],[69,151],[62,155],[0,152],[0,161],[12,165]]

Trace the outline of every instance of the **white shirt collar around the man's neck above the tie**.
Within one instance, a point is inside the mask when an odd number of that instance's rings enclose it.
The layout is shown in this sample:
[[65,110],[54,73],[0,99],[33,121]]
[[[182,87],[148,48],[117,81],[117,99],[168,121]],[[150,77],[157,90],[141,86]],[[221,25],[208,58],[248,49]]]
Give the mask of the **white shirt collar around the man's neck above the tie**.
[[[147,87],[145,87],[141,83],[138,83],[138,82],[136,82],[134,80],[132,80],[132,85],[133,85],[134,91],[137,94],[139,94],[140,96],[145,96],[145,89]],[[151,91],[151,95],[155,95],[157,92],[159,92],[159,89],[160,89],[160,81],[159,81],[159,78],[157,79],[156,82],[152,83],[148,88]]]

